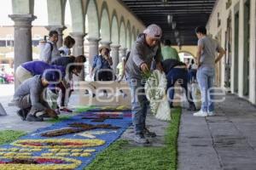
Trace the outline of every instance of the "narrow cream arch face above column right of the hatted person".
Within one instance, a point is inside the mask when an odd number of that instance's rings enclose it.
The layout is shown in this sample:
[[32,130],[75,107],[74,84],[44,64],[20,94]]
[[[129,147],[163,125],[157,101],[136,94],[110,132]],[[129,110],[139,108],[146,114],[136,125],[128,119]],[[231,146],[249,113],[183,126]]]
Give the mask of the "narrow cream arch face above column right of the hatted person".
[[111,42],[113,45],[119,45],[119,23],[115,10],[113,10],[111,19]]

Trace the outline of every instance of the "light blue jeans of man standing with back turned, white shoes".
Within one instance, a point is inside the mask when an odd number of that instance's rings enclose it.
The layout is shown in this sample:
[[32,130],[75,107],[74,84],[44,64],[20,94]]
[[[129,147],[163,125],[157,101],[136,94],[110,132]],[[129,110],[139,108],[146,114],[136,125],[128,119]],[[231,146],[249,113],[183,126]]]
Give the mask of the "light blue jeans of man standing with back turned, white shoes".
[[197,82],[201,91],[201,111],[214,111],[213,105],[213,81],[215,70],[211,67],[200,67],[197,70]]

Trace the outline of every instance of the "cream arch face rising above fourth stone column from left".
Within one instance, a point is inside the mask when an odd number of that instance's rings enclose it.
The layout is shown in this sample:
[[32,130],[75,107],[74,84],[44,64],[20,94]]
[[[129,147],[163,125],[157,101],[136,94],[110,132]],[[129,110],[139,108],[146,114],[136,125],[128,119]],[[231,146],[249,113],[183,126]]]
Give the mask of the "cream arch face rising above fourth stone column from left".
[[[99,26],[99,14],[96,8],[96,1],[89,0],[86,5],[86,15],[88,18],[88,37],[98,38],[100,37],[100,26]],[[85,17],[84,17],[85,18]]]

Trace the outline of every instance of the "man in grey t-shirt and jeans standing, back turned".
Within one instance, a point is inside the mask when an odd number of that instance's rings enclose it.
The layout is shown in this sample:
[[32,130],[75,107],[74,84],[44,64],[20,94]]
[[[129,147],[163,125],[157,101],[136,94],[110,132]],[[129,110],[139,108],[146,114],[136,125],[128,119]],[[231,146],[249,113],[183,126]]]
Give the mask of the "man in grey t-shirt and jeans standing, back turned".
[[[198,37],[198,49],[196,54],[198,70],[197,82],[201,90],[201,111],[194,113],[194,116],[214,116],[213,80],[215,75],[215,64],[224,56],[225,50],[221,48],[215,40],[207,36],[205,26],[199,26],[195,29]],[[218,57],[215,59],[216,52]]]

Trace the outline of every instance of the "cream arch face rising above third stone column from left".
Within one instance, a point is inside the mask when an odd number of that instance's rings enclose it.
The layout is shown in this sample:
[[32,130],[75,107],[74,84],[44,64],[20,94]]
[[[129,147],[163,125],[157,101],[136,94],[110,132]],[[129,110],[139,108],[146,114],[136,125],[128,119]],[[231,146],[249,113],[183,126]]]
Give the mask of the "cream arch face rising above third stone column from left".
[[70,4],[71,16],[72,16],[73,32],[84,33],[84,13],[83,13],[82,1],[69,0],[69,4]]

